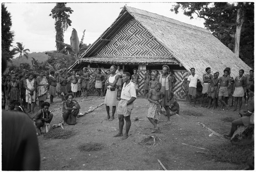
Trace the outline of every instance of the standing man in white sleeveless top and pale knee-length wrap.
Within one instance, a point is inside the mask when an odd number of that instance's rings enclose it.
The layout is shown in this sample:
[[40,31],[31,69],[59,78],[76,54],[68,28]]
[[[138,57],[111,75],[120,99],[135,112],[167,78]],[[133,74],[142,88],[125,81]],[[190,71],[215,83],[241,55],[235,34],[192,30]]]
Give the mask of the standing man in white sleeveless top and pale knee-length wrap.
[[[113,120],[114,115],[116,112],[116,97],[117,97],[117,89],[116,89],[116,83],[118,81],[118,75],[116,74],[117,67],[115,65],[112,65],[110,67],[110,75],[108,79],[106,79],[105,85],[106,85],[106,95],[104,104],[106,105],[106,113],[107,117],[106,120]],[[112,116],[110,117],[110,106],[112,106]]]

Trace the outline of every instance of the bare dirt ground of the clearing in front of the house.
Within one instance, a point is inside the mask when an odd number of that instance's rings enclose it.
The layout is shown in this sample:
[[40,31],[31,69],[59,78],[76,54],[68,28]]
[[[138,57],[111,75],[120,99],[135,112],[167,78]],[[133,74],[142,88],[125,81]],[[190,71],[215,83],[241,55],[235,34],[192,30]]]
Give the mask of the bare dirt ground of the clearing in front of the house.
[[[82,113],[104,102],[104,99],[96,96],[89,96],[88,101],[83,101],[81,97],[76,100],[81,101],[79,104]],[[51,126],[62,121],[61,100],[54,98],[54,102],[56,104],[50,106],[54,115]],[[191,108],[187,102],[179,101],[180,114],[171,116],[170,124],[166,123],[167,117],[162,114],[159,122],[161,133],[152,134],[153,126],[146,118],[147,104],[148,101],[143,97],[135,100],[129,138],[125,140],[113,137],[118,133],[118,115],[115,115],[113,121],[104,120],[105,105],[79,117],[74,126],[66,126],[64,130],[60,127],[51,128],[49,133],[38,136],[40,169],[162,170],[158,160],[167,170],[242,169],[241,165],[216,162],[215,159],[206,157],[209,146],[230,141],[212,135],[199,124],[201,122],[223,135],[229,132],[231,126],[231,122],[223,119],[237,118],[238,112]],[[133,120],[135,116],[139,120]],[[150,136],[156,137],[155,144]]]

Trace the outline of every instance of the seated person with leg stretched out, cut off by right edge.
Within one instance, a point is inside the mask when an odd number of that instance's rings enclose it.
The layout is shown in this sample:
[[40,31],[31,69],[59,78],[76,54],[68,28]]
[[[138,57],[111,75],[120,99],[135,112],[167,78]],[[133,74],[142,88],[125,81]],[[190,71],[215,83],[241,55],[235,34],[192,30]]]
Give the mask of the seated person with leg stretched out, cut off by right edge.
[[235,119],[232,121],[231,131],[229,134],[224,134],[224,137],[230,139],[234,132],[237,130],[237,126],[249,126],[254,125],[254,84],[249,87],[249,94],[252,96],[252,101],[250,103],[249,109],[244,114],[243,117]]

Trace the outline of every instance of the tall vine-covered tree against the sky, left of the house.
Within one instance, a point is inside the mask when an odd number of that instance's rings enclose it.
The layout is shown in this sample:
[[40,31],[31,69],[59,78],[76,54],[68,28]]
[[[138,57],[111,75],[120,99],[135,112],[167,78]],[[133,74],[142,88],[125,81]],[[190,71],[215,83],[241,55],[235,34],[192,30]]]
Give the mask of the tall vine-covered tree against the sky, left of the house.
[[64,33],[71,26],[72,21],[69,19],[73,10],[70,7],[66,7],[67,3],[56,3],[56,6],[52,9],[52,18],[55,19],[55,31],[56,31],[56,48],[57,52],[60,52],[65,46],[58,41],[64,42]]

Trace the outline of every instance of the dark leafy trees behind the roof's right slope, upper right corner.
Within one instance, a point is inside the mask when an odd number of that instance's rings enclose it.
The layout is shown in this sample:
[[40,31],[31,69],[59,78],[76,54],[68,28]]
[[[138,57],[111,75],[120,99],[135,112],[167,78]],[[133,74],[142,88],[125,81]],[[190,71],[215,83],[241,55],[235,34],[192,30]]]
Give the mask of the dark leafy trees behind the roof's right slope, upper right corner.
[[250,38],[254,37],[254,3],[177,3],[170,10],[177,14],[179,9],[190,19],[193,15],[203,18],[204,26],[212,35],[228,46],[236,56],[253,66],[248,62],[248,59],[253,59],[253,48],[251,51],[246,48],[245,55],[242,54],[244,51],[241,51],[240,47],[254,46],[254,41],[250,41],[250,45],[243,41],[245,32]]

